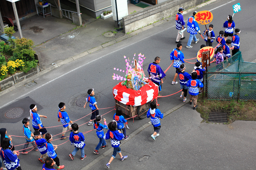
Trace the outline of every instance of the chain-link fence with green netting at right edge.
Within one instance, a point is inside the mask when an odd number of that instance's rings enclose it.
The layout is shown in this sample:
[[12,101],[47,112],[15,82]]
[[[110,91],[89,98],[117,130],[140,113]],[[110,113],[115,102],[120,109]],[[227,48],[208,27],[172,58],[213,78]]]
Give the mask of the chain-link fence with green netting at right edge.
[[241,52],[204,75],[205,97],[214,100],[256,100],[256,63],[244,62]]

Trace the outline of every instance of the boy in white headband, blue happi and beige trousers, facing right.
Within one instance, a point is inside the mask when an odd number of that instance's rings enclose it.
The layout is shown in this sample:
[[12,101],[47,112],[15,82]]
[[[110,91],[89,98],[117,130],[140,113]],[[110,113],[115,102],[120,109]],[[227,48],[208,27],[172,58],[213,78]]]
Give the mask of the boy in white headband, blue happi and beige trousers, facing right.
[[[66,105],[63,102],[60,102],[59,104],[59,112],[58,112],[58,122],[61,122],[63,125],[63,129],[62,129],[62,136],[61,136],[61,140],[67,139],[67,137],[65,137],[65,133],[67,131],[67,129],[71,129],[71,127],[69,126],[69,123],[73,123],[68,116],[68,113],[65,111],[66,109]],[[73,131],[71,129],[71,131]]]

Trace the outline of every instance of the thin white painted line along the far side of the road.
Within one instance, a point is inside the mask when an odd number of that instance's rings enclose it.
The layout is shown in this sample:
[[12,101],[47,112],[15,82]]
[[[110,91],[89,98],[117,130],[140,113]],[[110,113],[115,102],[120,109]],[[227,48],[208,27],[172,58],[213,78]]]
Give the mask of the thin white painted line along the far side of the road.
[[[233,1],[236,1],[236,0],[229,1],[229,2],[226,3],[226,4],[229,4],[229,3],[233,2]],[[213,8],[213,9],[211,9],[211,10],[209,10],[209,11],[212,11],[212,10],[215,10],[215,9],[217,9],[217,8],[220,8],[220,7],[222,7],[222,6],[226,5],[226,4],[222,4],[222,5],[220,5],[220,6],[216,7],[216,8]],[[174,25],[174,26],[175,26],[175,25]],[[149,38],[149,37],[155,36],[155,35],[158,34],[158,33],[162,33],[162,32],[164,32],[164,31],[166,31],[166,30],[168,30],[168,29],[171,29],[171,28],[174,27],[174,26],[171,26],[171,27],[166,28],[166,29],[164,29],[164,30],[162,30],[162,31],[159,31],[159,32],[157,32],[157,33],[154,33],[154,34],[152,34],[152,35],[150,35],[150,36],[148,36],[148,37],[145,37],[145,38],[141,39],[140,41],[143,41],[143,40],[145,40],[145,39],[147,39],[147,38]],[[22,98],[22,97],[28,95],[29,93],[34,92],[35,90],[37,90],[37,89],[39,89],[39,88],[41,88],[41,87],[43,87],[43,86],[45,86],[45,85],[51,83],[52,81],[57,80],[58,78],[61,78],[61,77],[65,76],[65,75],[67,75],[67,74],[69,74],[69,73],[71,73],[71,72],[73,72],[73,71],[75,71],[75,70],[77,70],[77,69],[80,69],[81,67],[86,66],[87,64],[90,64],[90,63],[92,63],[92,62],[94,62],[94,61],[97,61],[97,60],[99,60],[99,59],[101,59],[101,58],[107,56],[107,55],[110,55],[110,54],[115,53],[115,52],[117,52],[117,51],[119,51],[119,50],[122,50],[122,49],[124,49],[124,48],[127,48],[127,47],[129,47],[129,46],[131,46],[131,45],[133,45],[133,44],[135,44],[135,43],[140,42],[140,41],[133,42],[132,44],[130,44],[130,45],[128,45],[128,46],[125,46],[125,47],[120,48],[120,49],[118,49],[118,50],[112,51],[111,53],[108,53],[108,54],[106,54],[106,55],[101,56],[100,58],[97,58],[97,59],[95,59],[95,60],[92,60],[92,61],[90,61],[89,63],[86,63],[86,64],[84,64],[84,65],[81,65],[81,66],[79,66],[79,67],[73,69],[73,70],[70,70],[70,71],[68,71],[67,73],[62,74],[60,77],[54,78],[54,79],[52,79],[51,81],[48,81],[47,83],[44,83],[43,85],[40,85],[40,86],[36,87],[35,89],[31,90],[30,92],[27,92],[27,93],[23,94],[22,96],[20,96],[20,97],[18,97],[18,98],[16,98],[16,99],[14,99],[14,100],[12,100],[12,101],[10,101],[10,102],[4,104],[3,106],[0,107],[0,109],[3,108],[3,107],[5,107],[5,106],[7,106],[7,105],[9,105],[9,104],[11,104],[11,103],[13,103],[15,100],[19,100],[20,98]]]

